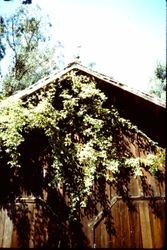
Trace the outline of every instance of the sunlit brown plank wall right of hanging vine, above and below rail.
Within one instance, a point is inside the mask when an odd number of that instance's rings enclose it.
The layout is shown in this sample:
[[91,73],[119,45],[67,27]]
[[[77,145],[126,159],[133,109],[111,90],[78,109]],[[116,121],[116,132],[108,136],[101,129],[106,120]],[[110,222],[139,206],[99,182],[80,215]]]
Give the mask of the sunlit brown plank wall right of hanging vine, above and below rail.
[[[152,187],[152,194],[149,191]],[[85,223],[91,247],[97,248],[162,248],[165,244],[165,188],[148,176],[148,193],[140,178],[132,178],[129,185],[129,204],[112,188],[108,190],[113,217],[113,234],[106,231],[103,216]],[[86,231],[85,230],[85,231]]]

